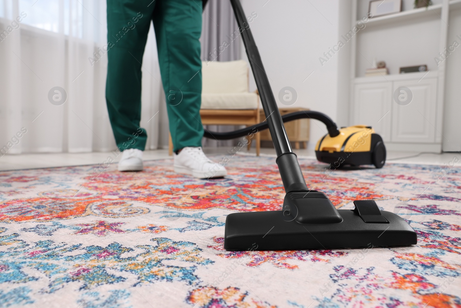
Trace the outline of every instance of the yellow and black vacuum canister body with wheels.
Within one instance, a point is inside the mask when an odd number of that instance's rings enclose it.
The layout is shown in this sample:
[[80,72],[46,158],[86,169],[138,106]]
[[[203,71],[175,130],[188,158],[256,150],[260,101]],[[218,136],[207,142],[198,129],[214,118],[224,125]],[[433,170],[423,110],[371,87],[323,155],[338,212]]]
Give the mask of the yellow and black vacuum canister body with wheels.
[[320,162],[335,168],[370,164],[382,168],[386,162],[383,139],[365,125],[341,127],[336,137],[326,134],[317,142],[315,154]]

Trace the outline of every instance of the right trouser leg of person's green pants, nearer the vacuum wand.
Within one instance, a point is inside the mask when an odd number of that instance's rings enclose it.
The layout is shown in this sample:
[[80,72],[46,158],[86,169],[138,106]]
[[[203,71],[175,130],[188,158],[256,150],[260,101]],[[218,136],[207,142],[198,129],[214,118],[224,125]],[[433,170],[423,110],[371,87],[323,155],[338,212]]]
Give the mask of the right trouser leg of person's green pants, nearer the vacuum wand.
[[174,151],[201,146],[201,0],[156,0],[153,21]]

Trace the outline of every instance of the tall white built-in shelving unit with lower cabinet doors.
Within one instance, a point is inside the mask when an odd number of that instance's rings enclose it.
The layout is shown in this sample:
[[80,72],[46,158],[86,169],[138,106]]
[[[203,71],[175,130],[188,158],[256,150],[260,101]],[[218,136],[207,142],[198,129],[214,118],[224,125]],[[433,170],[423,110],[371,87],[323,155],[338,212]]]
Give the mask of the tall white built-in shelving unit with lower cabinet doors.
[[[353,28],[366,16],[369,0],[352,2]],[[403,0],[402,12],[370,18],[352,39],[349,122],[374,127],[389,150],[442,151],[446,61],[437,65],[434,57],[447,46],[449,10],[460,8],[461,0],[433,2],[413,9],[413,0]],[[389,75],[365,77],[374,58],[386,62]],[[398,72],[399,67],[418,65],[427,65],[429,71]],[[402,86],[413,94],[405,106],[394,100]]]

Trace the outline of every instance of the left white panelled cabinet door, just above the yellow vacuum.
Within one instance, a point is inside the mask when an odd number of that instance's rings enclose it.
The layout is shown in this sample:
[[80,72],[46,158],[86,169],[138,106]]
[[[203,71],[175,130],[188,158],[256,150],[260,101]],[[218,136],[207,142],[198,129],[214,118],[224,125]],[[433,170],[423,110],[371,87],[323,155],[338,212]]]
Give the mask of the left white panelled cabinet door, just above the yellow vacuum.
[[355,85],[353,125],[373,127],[385,141],[390,141],[390,100],[392,83]]

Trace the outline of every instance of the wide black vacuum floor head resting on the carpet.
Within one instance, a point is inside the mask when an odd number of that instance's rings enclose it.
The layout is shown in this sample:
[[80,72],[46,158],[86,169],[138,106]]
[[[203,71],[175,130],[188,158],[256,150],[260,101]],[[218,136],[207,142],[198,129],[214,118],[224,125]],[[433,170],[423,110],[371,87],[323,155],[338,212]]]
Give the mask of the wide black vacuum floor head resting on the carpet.
[[324,193],[287,193],[282,211],[232,213],[226,218],[227,250],[296,250],[416,244],[416,232],[374,200],[337,210]]

